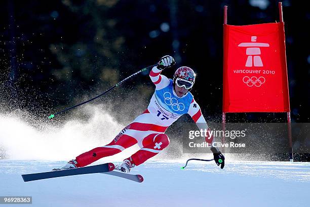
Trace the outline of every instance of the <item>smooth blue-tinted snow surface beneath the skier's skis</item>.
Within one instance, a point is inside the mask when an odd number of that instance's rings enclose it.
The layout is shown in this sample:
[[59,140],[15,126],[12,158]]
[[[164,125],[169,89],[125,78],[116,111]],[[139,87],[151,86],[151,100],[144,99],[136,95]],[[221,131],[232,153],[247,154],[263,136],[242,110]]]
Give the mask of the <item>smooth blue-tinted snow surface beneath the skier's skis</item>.
[[23,182],[22,174],[49,171],[66,161],[4,159],[0,195],[32,196],[31,206],[309,205],[310,163],[227,159],[224,169],[214,161],[192,161],[182,170],[183,161],[150,160],[133,168],[143,183],[104,174]]

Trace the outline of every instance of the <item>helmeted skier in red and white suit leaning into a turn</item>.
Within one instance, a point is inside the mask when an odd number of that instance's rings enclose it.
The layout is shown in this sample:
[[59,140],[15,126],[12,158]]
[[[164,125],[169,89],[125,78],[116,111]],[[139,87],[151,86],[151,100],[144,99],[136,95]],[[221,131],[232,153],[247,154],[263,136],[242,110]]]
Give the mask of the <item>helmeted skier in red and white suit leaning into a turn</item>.
[[[123,172],[129,172],[134,166],[140,165],[147,159],[157,155],[169,145],[166,129],[183,114],[189,114],[200,129],[207,129],[208,125],[201,113],[198,103],[189,92],[195,83],[196,74],[190,67],[179,67],[173,80],[161,75],[161,72],[175,64],[172,56],[162,57],[157,66],[149,73],[156,90],[150,99],[147,109],[131,124],[126,126],[109,144],[94,148],[75,159],[70,160],[59,169],[83,167],[102,157],[122,152],[135,144],[141,149],[115,166]],[[212,143],[213,136],[206,137],[206,142]],[[216,164],[224,167],[224,156],[217,148],[211,147]],[[219,159],[222,162],[219,162]]]

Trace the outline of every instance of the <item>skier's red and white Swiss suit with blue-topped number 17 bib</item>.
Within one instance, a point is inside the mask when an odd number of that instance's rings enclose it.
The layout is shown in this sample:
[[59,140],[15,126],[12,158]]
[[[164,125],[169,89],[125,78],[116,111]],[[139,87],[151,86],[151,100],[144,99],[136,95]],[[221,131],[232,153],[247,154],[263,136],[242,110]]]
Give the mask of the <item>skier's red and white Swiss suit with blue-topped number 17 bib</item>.
[[[198,103],[190,92],[178,97],[173,89],[173,81],[160,75],[161,70],[153,67],[149,76],[156,85],[156,90],[143,114],[126,126],[109,144],[94,148],[78,157],[78,167],[86,166],[102,157],[122,152],[135,144],[141,148],[127,158],[133,165],[139,165],[157,155],[169,145],[166,129],[183,114],[189,114],[199,129],[207,129],[208,125],[201,113]],[[212,143],[213,136],[206,137]]]

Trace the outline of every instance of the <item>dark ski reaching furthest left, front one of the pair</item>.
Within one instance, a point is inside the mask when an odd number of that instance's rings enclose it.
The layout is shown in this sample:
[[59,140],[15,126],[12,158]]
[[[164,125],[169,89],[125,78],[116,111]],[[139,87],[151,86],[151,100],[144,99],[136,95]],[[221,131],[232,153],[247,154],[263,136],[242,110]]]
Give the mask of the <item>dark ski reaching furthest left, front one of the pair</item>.
[[62,169],[56,171],[49,172],[39,172],[34,174],[26,174],[22,175],[24,182],[42,180],[48,178],[58,178],[64,176],[75,176],[75,175],[84,175],[84,174],[92,174],[92,173],[101,173],[112,171],[115,168],[113,163],[105,163],[92,165],[87,167],[79,167],[73,169]]

